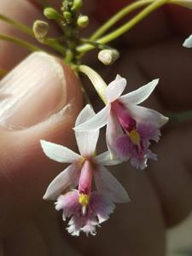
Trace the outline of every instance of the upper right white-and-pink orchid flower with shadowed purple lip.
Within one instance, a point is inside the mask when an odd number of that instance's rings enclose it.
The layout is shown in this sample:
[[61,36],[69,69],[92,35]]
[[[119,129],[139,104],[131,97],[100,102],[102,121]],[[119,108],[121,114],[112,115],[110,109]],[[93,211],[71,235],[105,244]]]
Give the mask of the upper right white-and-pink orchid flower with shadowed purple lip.
[[111,158],[131,159],[131,165],[144,169],[147,160],[156,160],[148,146],[158,142],[160,127],[167,118],[149,108],[137,106],[152,93],[159,79],[154,79],[137,90],[121,96],[126,80],[117,75],[106,89],[106,107],[84,124],[74,127],[75,131],[94,131],[107,125],[106,140]]

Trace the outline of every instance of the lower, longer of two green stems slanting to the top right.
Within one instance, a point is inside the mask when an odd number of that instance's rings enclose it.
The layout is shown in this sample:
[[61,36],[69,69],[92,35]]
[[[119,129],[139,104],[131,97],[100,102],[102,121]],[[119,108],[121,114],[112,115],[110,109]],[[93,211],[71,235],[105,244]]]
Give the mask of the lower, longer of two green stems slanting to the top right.
[[[147,8],[143,9],[139,14],[133,17],[131,20],[125,23],[125,25],[120,26],[118,29],[104,36],[103,38],[99,38],[96,40],[96,43],[99,44],[108,44],[116,38],[119,38],[122,34],[129,31],[133,26],[137,25],[137,23],[143,20],[146,16],[148,16],[155,9],[160,8],[161,5],[167,3],[169,0],[157,0],[154,3],[151,3]],[[94,49],[93,45],[84,44],[77,47],[79,53],[84,53],[89,51],[90,49]]]

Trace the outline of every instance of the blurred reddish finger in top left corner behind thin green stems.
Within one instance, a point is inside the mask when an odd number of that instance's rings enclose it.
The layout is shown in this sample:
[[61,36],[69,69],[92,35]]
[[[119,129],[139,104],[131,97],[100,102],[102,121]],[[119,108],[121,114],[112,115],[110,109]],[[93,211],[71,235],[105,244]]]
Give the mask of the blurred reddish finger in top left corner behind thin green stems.
[[[42,18],[38,9],[36,9],[32,3],[27,1],[3,1],[0,0],[1,14],[6,15],[12,20],[20,21],[27,26],[32,26],[33,20]],[[36,41],[31,37],[26,36],[23,32],[19,32],[14,26],[0,20],[1,34],[15,36],[28,40],[32,43]],[[12,67],[22,60],[29,52],[26,49],[20,48],[20,46],[5,41],[0,41],[0,67],[5,70],[10,70]]]

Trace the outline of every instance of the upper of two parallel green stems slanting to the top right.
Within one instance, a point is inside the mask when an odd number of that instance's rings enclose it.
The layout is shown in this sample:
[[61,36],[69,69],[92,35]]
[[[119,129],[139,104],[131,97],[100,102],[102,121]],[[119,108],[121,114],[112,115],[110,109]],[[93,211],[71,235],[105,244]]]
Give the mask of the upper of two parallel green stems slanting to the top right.
[[105,24],[98,28],[96,32],[94,32],[94,34],[90,37],[90,40],[96,40],[97,38],[100,38],[105,32],[108,31],[110,27],[124,18],[125,15],[128,15],[133,10],[141,8],[143,5],[147,5],[148,3],[152,2],[154,2],[154,0],[140,0],[125,6],[124,9],[121,9],[116,15],[113,15],[111,19],[109,19]]

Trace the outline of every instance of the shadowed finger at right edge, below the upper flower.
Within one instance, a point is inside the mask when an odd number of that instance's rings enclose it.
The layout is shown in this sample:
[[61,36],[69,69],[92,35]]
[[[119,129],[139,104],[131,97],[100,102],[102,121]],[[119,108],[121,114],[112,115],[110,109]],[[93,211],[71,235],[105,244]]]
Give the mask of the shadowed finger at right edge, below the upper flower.
[[190,125],[167,131],[156,149],[159,160],[148,170],[167,226],[182,221],[192,209],[191,138]]

